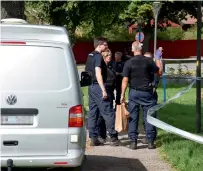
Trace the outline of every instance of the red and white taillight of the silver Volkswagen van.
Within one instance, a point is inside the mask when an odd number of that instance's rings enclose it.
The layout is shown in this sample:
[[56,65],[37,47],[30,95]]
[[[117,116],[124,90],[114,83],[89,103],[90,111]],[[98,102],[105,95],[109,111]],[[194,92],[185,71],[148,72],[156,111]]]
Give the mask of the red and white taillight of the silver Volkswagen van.
[[83,127],[82,105],[73,106],[69,110],[69,127]]

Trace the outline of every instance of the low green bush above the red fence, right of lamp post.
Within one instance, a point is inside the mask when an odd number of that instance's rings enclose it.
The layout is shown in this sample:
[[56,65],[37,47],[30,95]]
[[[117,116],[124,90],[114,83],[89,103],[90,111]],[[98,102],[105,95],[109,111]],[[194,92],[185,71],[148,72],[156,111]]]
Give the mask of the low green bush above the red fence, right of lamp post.
[[182,40],[184,38],[184,31],[181,28],[172,28],[168,27],[164,31],[157,32],[157,39],[158,40]]

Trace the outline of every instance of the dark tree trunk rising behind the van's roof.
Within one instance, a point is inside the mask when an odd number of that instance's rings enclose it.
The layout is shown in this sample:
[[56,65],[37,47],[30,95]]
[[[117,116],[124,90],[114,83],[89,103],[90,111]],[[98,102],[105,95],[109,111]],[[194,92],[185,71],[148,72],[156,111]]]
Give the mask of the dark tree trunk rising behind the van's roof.
[[24,1],[1,1],[1,19],[25,19]]

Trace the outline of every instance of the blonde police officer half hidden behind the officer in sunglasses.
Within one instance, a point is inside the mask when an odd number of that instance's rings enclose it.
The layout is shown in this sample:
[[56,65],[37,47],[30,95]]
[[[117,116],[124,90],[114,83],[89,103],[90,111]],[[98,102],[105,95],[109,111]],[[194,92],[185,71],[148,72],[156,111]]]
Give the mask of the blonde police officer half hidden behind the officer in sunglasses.
[[[112,59],[112,53],[109,49],[105,50],[101,53],[104,62],[107,65],[107,81],[106,81],[106,89],[108,89],[109,92],[109,100],[111,101],[111,107],[113,108],[113,100],[114,100],[114,88],[116,84],[116,71],[114,70],[113,63],[111,61]],[[98,140],[101,143],[105,143],[107,140],[107,134],[106,134],[106,125],[103,117],[100,115],[98,122],[97,122],[97,134],[98,134]]]

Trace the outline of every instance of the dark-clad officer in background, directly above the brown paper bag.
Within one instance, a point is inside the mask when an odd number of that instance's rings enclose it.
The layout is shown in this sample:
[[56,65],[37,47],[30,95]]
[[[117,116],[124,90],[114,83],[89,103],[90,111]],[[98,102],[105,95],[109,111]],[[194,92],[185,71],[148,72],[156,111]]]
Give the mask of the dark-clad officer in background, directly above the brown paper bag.
[[116,105],[120,105],[121,99],[121,84],[122,84],[122,72],[124,63],[121,61],[122,53],[115,53],[115,70],[116,70]]

